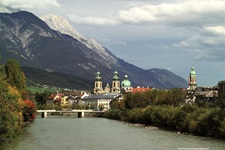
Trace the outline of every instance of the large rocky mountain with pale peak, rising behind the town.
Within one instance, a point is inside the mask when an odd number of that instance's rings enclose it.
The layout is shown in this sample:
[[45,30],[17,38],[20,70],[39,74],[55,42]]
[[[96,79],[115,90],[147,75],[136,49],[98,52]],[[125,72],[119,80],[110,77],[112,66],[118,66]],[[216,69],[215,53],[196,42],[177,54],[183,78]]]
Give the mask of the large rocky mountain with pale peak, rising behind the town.
[[105,84],[111,83],[116,70],[121,80],[127,74],[134,86],[187,87],[187,81],[172,72],[144,70],[117,58],[96,40],[78,33],[62,17],[42,19],[46,22],[26,11],[0,13],[0,63],[14,58],[22,66],[89,80],[100,71]]

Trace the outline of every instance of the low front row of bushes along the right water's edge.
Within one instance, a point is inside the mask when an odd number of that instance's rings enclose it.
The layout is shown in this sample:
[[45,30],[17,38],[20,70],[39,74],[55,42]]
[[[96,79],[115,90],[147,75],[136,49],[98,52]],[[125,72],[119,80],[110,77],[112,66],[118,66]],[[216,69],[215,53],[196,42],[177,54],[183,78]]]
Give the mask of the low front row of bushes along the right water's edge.
[[135,109],[110,109],[104,117],[155,126],[177,133],[225,139],[225,110],[196,105],[148,106]]

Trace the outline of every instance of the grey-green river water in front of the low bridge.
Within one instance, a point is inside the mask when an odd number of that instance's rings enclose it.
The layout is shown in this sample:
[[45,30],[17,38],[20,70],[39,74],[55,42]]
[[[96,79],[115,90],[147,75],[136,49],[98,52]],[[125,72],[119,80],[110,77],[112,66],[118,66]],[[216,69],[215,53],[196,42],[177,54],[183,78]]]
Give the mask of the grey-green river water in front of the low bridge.
[[37,118],[7,150],[225,150],[225,141],[105,118]]

